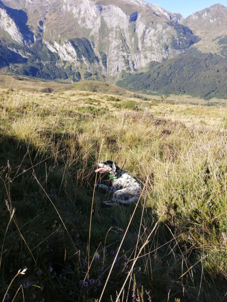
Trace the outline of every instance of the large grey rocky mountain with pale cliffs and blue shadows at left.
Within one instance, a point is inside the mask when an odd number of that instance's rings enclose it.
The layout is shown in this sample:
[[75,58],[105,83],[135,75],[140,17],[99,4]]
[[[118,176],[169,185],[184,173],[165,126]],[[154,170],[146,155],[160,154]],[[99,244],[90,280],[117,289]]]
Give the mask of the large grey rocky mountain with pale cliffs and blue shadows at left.
[[47,79],[110,79],[197,43],[182,20],[142,0],[0,0],[1,64]]

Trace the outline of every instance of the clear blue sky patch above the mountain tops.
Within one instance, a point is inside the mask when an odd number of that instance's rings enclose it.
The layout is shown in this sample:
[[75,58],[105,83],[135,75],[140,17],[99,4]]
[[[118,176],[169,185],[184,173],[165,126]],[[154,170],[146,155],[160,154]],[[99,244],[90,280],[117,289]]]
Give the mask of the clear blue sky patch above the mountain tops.
[[166,11],[171,13],[180,13],[184,18],[188,17],[190,14],[196,11],[201,11],[206,7],[210,7],[214,4],[222,4],[227,7],[227,0],[145,0],[152,4],[157,4],[163,7]]

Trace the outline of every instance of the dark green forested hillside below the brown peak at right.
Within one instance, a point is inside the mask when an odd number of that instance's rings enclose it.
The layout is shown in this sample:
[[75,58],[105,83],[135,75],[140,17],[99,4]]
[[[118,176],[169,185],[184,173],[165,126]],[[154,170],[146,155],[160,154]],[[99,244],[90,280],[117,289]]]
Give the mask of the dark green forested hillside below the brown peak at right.
[[186,93],[207,100],[227,98],[226,66],[226,57],[194,48],[165,62],[150,63],[147,72],[123,74],[117,85],[131,91]]

